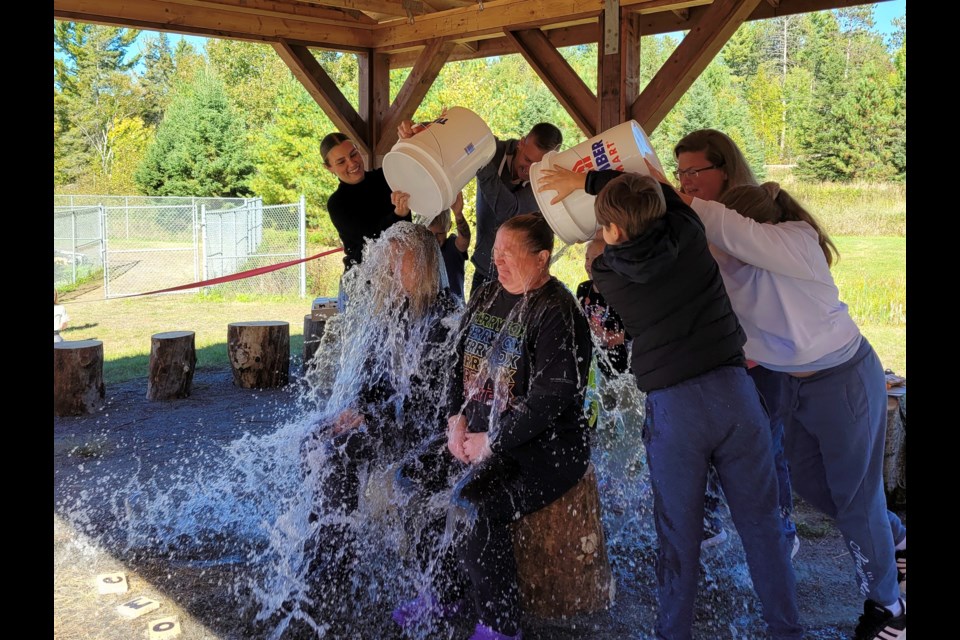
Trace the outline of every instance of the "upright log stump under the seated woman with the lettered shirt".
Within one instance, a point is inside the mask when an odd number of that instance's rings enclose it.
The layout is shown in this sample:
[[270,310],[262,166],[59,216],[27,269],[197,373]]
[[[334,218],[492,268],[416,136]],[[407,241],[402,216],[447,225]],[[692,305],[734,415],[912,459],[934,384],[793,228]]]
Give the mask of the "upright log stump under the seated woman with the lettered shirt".
[[514,525],[513,549],[527,613],[562,618],[613,603],[616,587],[593,465],[560,499]]

